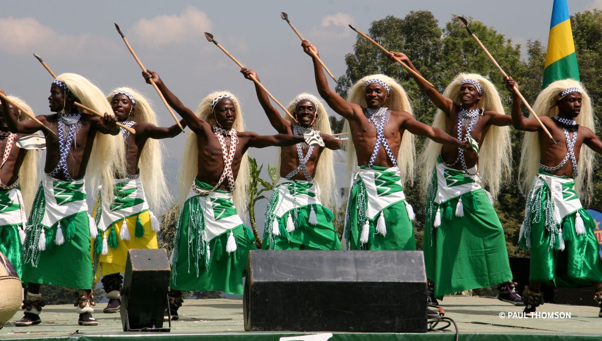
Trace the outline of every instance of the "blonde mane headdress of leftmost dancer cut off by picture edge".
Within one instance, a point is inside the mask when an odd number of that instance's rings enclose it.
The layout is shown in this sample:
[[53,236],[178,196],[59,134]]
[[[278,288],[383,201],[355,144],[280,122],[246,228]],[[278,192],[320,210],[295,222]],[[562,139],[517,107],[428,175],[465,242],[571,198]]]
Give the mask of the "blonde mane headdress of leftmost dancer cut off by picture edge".
[[[19,104],[23,109],[27,110],[30,113],[34,113],[31,110],[31,107],[21,98],[16,96],[7,96],[8,99],[13,101],[14,103]],[[20,113],[20,110],[19,110]],[[21,114],[19,117],[19,121],[25,121],[29,119],[29,116],[25,114]],[[15,141],[16,143],[16,141]],[[34,197],[36,196],[37,190],[37,172],[38,172],[38,161],[40,159],[40,153],[36,149],[29,149],[27,154],[25,154],[25,159],[23,159],[23,163],[21,164],[21,168],[19,169],[19,184],[21,186],[21,194],[23,195],[23,202],[25,204],[25,213],[29,216],[29,211],[31,210],[31,205],[34,202]]]

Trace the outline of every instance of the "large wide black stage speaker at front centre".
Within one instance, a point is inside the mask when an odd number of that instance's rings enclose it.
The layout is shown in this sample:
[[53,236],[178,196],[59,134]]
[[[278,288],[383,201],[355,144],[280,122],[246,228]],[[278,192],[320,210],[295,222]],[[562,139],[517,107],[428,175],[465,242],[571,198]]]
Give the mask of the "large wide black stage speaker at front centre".
[[252,250],[247,331],[425,333],[420,251]]

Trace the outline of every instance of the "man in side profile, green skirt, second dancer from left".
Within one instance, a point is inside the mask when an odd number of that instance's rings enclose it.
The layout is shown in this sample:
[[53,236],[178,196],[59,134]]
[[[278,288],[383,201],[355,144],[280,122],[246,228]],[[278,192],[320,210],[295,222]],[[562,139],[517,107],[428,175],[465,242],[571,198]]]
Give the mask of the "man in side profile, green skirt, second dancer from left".
[[[78,74],[65,73],[52,83],[49,107],[52,115],[40,115],[42,124],[57,134],[46,133],[45,175],[34,199],[25,229],[22,281],[28,283],[23,301],[25,316],[19,327],[40,323],[43,307],[40,284],[54,284],[76,290],[79,325],[98,325],[92,316],[92,259],[90,237],[97,229],[88,216],[84,175],[91,188],[101,183],[103,196],[113,198],[113,174],[124,172],[123,143],[117,140],[119,128],[101,90]],[[104,118],[85,115],[73,102],[79,102]],[[33,120],[4,117],[12,133],[31,134],[40,130]],[[120,143],[117,143],[120,142]]]

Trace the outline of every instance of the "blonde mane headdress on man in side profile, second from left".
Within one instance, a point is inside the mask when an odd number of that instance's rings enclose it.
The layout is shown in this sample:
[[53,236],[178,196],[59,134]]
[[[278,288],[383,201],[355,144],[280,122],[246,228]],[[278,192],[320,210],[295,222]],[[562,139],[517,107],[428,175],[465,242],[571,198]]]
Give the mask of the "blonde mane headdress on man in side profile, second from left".
[[[99,113],[113,113],[101,89],[79,74],[63,73],[57,77],[67,85],[79,103]],[[90,161],[86,168],[86,185],[96,192],[102,185],[102,196],[113,201],[113,179],[116,174],[125,173],[125,148],[121,136],[96,133]]]

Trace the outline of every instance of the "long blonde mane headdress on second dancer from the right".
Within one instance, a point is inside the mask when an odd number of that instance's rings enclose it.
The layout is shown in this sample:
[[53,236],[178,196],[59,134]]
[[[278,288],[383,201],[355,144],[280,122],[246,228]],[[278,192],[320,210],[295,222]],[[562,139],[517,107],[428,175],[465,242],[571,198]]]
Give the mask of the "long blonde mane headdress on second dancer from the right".
[[[461,105],[460,103],[460,86],[472,80],[479,86],[479,90],[482,92],[481,99],[477,103],[477,107],[483,111],[494,111],[497,113],[505,114],[504,106],[501,104],[500,93],[491,81],[481,76],[480,74],[474,73],[461,73],[452,80],[452,83],[445,88],[443,97],[450,98],[454,103]],[[434,128],[445,130],[445,122],[447,122],[447,115],[438,109],[433,119]],[[454,129],[454,134],[456,130]],[[456,137],[456,136],[454,136]],[[430,181],[432,180],[433,169],[437,163],[437,157],[441,154],[441,143],[429,139],[423,148],[420,155],[420,166],[423,170],[423,174],[420,180],[420,188],[423,193],[423,198],[426,198],[426,190],[429,187]],[[498,127],[497,125],[491,125],[487,132],[484,140],[480,143],[479,148],[479,177],[483,181],[485,186],[489,187],[489,192],[493,198],[497,197],[497,193],[500,191],[500,184],[503,179],[510,174],[510,160],[511,160],[511,149],[510,149],[510,130],[508,127]]]

